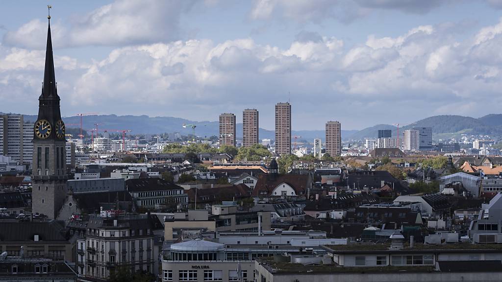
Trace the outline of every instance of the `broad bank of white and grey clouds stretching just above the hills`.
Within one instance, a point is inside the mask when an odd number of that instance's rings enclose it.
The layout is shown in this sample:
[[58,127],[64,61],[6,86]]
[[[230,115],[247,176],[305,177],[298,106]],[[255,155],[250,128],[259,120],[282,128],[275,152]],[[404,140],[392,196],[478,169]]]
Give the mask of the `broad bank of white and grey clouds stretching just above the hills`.
[[[418,26],[353,46],[301,32],[286,47],[192,39],[114,48],[91,62],[56,53],[56,78],[64,114],[84,107],[215,120],[254,107],[271,128],[273,104],[291,99],[294,127],[304,129],[322,128],[327,119],[360,128],[371,125],[368,117],[478,116],[498,112],[502,102],[500,23],[462,40],[442,27]],[[0,46],[0,111],[36,112],[44,56]]]

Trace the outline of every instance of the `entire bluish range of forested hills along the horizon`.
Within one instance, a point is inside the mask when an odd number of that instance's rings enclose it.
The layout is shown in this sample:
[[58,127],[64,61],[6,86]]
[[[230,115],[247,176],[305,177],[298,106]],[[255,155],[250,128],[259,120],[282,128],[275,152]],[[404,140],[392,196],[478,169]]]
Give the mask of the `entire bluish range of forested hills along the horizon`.
[[[25,115],[25,120],[35,121],[36,115]],[[79,124],[79,116],[63,117],[66,124]],[[83,127],[94,128],[98,123],[99,128],[107,129],[128,129],[131,134],[158,134],[180,132],[183,135],[190,135],[190,128],[183,128],[182,124],[196,124],[195,133],[198,136],[211,136],[218,134],[217,121],[193,121],[184,118],[170,116],[150,117],[147,115],[90,115],[83,117]],[[242,137],[242,124],[237,123],[237,138]],[[485,134],[490,137],[502,137],[502,114],[488,114],[480,118],[473,118],[461,115],[436,115],[427,117],[411,124],[402,125],[400,135],[403,130],[416,127],[432,127],[433,138],[448,139],[460,137],[462,134]],[[77,128],[78,125],[67,126]],[[342,139],[344,140],[364,140],[364,138],[376,138],[379,129],[393,130],[393,136],[397,136],[397,127],[390,124],[377,124],[362,130],[345,130],[342,123]],[[292,130],[292,135],[302,136],[300,139],[312,141],[313,138],[324,140],[324,130]],[[260,128],[260,138],[274,138],[274,130]],[[300,141],[299,139],[299,141]]]

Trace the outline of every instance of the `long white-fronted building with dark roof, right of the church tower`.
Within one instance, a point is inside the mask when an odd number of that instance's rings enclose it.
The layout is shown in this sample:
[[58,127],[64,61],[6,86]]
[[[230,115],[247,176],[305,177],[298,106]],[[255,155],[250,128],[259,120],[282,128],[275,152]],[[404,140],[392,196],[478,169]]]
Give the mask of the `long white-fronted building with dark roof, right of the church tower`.
[[138,207],[154,208],[156,205],[188,205],[188,194],[183,187],[161,178],[141,178],[126,181],[126,188]]

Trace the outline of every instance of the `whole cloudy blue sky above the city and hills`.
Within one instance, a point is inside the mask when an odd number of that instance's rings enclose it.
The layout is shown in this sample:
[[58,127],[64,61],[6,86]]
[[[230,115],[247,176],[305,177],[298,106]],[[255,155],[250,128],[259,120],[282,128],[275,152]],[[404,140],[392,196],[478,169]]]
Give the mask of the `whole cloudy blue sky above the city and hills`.
[[[0,111],[36,114],[47,7],[5,1]],[[501,113],[502,0],[50,1],[56,81],[77,113],[217,120],[290,101],[292,127]]]

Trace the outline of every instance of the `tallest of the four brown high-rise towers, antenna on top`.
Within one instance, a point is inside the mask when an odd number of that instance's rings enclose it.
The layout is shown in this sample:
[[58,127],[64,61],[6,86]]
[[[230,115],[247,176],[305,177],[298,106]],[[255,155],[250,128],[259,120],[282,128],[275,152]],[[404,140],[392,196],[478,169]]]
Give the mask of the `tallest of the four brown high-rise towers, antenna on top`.
[[276,155],[291,154],[291,104],[276,104]]

